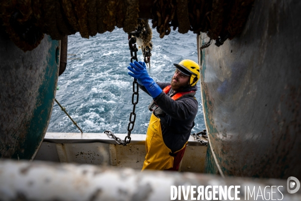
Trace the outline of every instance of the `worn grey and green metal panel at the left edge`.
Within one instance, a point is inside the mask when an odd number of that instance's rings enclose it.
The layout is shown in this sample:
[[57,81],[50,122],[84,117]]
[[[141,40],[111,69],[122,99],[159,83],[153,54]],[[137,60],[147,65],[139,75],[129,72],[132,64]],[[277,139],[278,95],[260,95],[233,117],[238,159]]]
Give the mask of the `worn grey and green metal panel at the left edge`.
[[58,80],[60,42],[45,35],[24,53],[0,37],[0,158],[32,159],[46,133]]

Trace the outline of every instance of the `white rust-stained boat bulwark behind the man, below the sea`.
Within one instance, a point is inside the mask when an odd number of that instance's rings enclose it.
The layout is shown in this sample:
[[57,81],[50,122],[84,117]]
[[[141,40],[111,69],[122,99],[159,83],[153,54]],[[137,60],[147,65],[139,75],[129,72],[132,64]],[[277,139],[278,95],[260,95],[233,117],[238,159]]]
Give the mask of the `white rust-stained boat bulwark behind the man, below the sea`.
[[[124,139],[127,134],[115,135]],[[146,154],[145,137],[131,134],[130,144],[122,146],[104,133],[46,133],[35,160],[141,169]],[[206,151],[206,146],[190,136],[180,170],[204,172]]]

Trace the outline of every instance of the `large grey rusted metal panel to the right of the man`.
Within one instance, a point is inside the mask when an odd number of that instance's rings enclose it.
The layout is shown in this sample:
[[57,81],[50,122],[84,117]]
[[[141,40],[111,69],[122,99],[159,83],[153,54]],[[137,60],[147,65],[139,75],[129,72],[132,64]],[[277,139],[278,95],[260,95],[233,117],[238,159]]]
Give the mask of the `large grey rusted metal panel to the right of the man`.
[[[222,175],[301,178],[301,2],[256,1],[243,32],[199,51],[211,151]],[[205,36],[200,36],[200,44]]]

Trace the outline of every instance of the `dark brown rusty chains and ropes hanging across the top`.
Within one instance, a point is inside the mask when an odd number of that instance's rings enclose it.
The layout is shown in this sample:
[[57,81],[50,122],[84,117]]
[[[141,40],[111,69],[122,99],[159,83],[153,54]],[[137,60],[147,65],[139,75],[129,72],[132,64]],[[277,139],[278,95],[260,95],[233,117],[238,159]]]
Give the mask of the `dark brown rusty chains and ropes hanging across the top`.
[[[253,2],[155,0],[150,13],[160,38],[169,35],[173,27],[180,33],[207,33],[221,45],[242,31]],[[89,38],[111,32],[115,26],[129,33],[138,25],[138,0],[0,0],[0,5],[0,25],[23,51],[36,48],[44,34],[54,40],[76,32]]]

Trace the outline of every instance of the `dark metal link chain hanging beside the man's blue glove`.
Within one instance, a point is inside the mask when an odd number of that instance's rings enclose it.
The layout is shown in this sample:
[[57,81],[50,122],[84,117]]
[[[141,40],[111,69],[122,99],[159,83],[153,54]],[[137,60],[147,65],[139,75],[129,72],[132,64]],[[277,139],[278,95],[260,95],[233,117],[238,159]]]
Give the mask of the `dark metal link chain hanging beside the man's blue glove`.
[[[129,50],[130,50],[130,62],[133,62],[133,59],[135,59],[136,61],[138,61],[137,59],[137,47],[136,47],[136,38],[135,37],[131,37],[129,36],[129,40],[128,40],[128,46],[129,46]],[[134,53],[134,54],[133,54]],[[108,136],[111,136],[115,142],[119,145],[123,145],[126,146],[128,143],[130,143],[130,133],[134,128],[135,125],[135,120],[136,120],[136,113],[135,113],[135,109],[136,109],[136,105],[138,104],[138,98],[139,98],[139,92],[138,92],[138,82],[137,79],[134,78],[133,81],[133,94],[132,94],[132,105],[133,105],[133,111],[130,113],[129,115],[129,123],[127,126],[127,136],[125,136],[124,141],[121,140],[120,138],[116,137],[113,132],[111,131],[105,131],[104,133],[107,134]],[[136,98],[135,98],[136,97]],[[134,102],[135,100],[135,102]],[[132,120],[133,118],[133,120]]]

